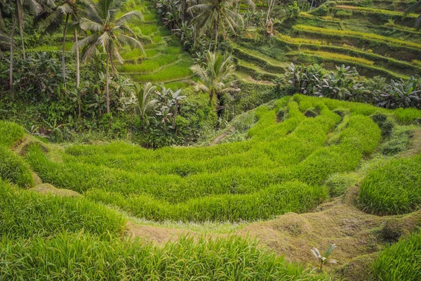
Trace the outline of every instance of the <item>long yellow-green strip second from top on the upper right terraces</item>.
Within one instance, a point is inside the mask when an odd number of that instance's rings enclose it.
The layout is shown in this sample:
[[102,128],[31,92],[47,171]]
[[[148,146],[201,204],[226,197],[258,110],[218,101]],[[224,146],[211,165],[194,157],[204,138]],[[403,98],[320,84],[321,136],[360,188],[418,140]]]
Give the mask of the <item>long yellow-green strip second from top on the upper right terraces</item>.
[[411,41],[403,41],[403,40],[395,39],[392,37],[385,37],[385,36],[373,34],[373,33],[356,32],[352,30],[332,30],[332,29],[327,29],[327,28],[322,28],[322,27],[314,27],[311,25],[295,25],[294,29],[318,32],[321,34],[329,34],[329,35],[338,34],[338,35],[349,35],[349,36],[354,36],[354,37],[363,37],[363,38],[375,39],[379,41],[386,41],[386,42],[401,45],[401,46],[408,46],[410,48],[418,48],[418,49],[421,48],[421,44],[417,44]]

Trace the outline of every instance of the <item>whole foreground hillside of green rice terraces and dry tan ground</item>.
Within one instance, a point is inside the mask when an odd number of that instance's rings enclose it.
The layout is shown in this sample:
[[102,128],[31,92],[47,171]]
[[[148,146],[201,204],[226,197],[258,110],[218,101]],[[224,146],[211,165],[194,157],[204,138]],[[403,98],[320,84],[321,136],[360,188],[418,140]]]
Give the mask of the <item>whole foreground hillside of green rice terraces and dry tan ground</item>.
[[[24,279],[68,280],[79,273],[108,280],[142,274],[226,279],[233,272],[267,280],[364,280],[383,274],[382,260],[393,252],[383,254],[383,247],[420,226],[421,193],[414,188],[420,183],[420,117],[418,110],[286,96],[234,119],[235,129],[217,145],[159,150],[123,142],[52,145],[1,122],[1,178],[12,183],[1,183],[0,261],[11,265],[1,273],[6,280],[13,268],[25,268],[15,271]],[[241,136],[247,140],[236,141]],[[146,242],[127,240],[133,236]],[[175,244],[149,244],[169,240]],[[415,251],[401,240],[399,247]],[[330,243],[338,244],[330,275],[305,270],[315,265],[309,247]],[[286,261],[262,251],[262,244]],[[209,249],[212,256],[188,254]],[[223,253],[232,268],[219,262]],[[236,262],[238,255],[247,256],[245,263]],[[119,258],[109,265],[112,256]],[[159,256],[168,257],[165,266],[158,266]],[[54,262],[41,266],[41,259]],[[170,266],[173,259],[182,261]],[[380,271],[371,271],[373,262]],[[207,266],[202,271],[194,263]],[[91,271],[93,264],[100,270]]]

